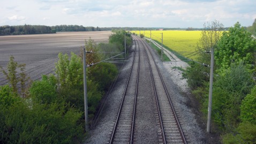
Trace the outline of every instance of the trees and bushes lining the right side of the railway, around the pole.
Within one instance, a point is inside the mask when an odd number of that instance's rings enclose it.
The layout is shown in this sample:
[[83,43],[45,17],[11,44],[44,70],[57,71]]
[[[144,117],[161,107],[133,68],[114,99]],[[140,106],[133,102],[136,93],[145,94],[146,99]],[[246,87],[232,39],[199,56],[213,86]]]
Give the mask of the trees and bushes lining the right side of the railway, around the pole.
[[[256,142],[256,40],[237,22],[220,31],[219,21],[205,25],[197,45],[199,63],[210,64],[206,51],[214,49],[212,133],[222,143]],[[183,76],[207,118],[209,67],[190,62]]]

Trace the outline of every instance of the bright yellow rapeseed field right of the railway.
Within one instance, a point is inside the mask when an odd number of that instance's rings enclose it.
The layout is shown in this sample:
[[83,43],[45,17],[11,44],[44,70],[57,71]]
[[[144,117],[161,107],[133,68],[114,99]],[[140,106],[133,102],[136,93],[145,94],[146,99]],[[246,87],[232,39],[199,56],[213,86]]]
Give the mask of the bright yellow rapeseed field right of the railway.
[[[141,33],[150,38],[150,31],[132,31],[132,33]],[[201,31],[151,31],[151,38],[161,43],[162,33],[164,46],[187,58],[197,57],[194,51],[201,37]]]

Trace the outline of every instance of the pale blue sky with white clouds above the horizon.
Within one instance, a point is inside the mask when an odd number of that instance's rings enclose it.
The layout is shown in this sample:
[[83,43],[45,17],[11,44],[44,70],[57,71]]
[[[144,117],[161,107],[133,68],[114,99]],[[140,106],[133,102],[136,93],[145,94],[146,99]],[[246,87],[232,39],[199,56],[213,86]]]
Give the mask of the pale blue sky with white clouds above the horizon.
[[3,25],[202,28],[251,26],[256,0],[0,0]]

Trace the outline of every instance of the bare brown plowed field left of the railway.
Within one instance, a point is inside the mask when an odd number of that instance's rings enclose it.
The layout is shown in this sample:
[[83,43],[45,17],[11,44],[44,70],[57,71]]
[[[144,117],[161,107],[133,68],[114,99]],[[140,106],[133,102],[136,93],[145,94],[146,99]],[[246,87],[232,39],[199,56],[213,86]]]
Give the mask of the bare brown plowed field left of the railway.
[[[102,31],[0,36],[0,65],[5,68],[12,55],[19,64],[26,64],[26,73],[32,80],[38,80],[42,74],[54,72],[59,52],[79,54],[89,37],[97,43],[107,43],[110,34]],[[0,86],[5,84],[7,81],[0,73]]]

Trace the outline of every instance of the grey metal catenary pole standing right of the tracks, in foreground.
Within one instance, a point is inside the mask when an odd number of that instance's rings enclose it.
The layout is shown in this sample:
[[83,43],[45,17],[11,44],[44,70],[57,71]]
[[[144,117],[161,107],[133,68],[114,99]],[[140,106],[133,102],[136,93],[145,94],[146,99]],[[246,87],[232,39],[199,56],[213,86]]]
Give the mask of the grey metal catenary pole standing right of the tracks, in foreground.
[[213,66],[214,66],[214,51],[210,52],[210,87],[209,87],[209,103],[208,103],[208,118],[207,118],[207,132],[210,132],[210,117],[212,114],[212,96],[213,96]]

